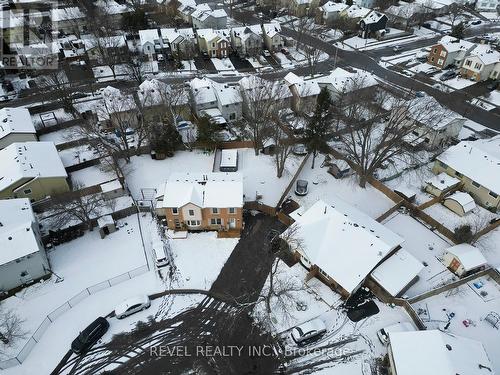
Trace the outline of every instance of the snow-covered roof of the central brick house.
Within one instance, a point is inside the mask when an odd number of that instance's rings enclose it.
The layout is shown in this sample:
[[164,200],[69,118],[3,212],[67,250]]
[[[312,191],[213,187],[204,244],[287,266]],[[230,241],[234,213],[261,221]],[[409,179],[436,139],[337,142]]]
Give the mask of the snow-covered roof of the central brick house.
[[173,173],[165,184],[162,207],[243,207],[240,173]]

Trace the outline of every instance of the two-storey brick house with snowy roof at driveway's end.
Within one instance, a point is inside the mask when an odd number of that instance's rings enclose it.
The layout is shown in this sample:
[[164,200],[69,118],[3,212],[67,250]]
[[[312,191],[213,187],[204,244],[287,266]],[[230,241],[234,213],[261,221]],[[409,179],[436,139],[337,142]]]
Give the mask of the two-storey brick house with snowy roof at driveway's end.
[[243,179],[239,173],[174,173],[156,212],[172,230],[238,233],[243,227]]

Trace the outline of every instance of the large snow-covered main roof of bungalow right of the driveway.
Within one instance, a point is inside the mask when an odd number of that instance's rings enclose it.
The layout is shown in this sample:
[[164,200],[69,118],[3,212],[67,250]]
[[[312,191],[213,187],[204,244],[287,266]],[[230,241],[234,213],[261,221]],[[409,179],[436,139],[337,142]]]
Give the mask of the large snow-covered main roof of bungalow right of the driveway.
[[340,198],[334,198],[330,204],[317,201],[297,218],[292,227],[295,226],[302,241],[296,250],[349,293],[404,242]]

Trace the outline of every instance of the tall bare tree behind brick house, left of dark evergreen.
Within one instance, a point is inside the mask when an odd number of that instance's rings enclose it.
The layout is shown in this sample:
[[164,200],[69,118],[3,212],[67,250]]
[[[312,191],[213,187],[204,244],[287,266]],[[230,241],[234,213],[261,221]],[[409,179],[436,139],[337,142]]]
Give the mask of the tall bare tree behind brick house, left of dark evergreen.
[[271,122],[285,108],[289,91],[281,82],[266,81],[256,76],[245,78],[240,84],[243,99],[243,130],[253,141],[255,155],[271,137]]

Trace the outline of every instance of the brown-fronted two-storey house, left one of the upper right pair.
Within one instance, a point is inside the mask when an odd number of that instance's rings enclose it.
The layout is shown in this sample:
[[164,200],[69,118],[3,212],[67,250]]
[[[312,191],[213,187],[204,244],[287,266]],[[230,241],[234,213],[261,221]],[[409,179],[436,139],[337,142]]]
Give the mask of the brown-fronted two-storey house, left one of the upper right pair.
[[474,43],[447,35],[431,47],[427,62],[439,69],[444,69],[451,65],[459,68],[464,58],[474,48],[476,48]]

